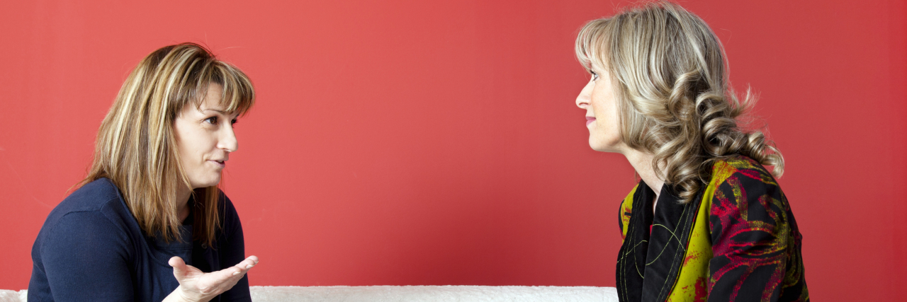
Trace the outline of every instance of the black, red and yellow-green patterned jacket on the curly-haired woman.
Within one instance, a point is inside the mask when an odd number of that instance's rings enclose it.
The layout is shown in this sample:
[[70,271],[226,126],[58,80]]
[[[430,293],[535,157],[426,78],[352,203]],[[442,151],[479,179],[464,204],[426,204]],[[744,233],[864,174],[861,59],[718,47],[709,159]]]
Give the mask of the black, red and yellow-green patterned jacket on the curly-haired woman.
[[640,181],[620,204],[620,301],[809,301],[794,215],[753,159],[717,162],[691,203],[654,199]]

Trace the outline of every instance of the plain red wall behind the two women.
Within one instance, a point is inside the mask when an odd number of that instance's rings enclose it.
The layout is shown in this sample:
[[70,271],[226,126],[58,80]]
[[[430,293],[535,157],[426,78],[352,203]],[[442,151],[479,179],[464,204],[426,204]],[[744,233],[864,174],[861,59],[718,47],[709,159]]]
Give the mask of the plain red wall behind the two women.
[[[622,156],[590,150],[580,25],[626,1],[0,4],[0,288],[132,67],[203,42],[258,105],[225,191],[252,285],[614,286]],[[784,151],[816,300],[907,281],[902,1],[687,1]]]

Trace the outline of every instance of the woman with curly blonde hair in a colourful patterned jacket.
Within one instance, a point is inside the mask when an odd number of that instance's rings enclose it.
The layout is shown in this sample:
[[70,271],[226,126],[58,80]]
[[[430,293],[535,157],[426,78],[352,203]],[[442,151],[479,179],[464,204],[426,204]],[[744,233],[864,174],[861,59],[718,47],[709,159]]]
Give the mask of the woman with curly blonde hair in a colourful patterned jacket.
[[784,157],[739,124],[754,99],[737,99],[708,25],[643,5],[585,24],[576,54],[590,146],[641,178],[620,204],[620,301],[809,300]]

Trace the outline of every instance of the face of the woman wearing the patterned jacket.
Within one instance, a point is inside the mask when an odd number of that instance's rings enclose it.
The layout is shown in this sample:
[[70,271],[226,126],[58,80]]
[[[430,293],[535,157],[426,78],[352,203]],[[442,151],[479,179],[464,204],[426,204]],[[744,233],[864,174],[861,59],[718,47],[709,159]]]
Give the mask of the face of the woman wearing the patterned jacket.
[[592,77],[576,97],[576,106],[586,110],[589,146],[602,152],[620,152],[620,124],[617,99],[608,71],[592,67]]

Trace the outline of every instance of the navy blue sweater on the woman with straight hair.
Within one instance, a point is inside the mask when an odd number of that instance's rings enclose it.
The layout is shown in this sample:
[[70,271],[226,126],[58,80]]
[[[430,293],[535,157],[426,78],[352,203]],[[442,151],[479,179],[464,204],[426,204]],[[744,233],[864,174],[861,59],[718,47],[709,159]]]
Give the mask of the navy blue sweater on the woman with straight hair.
[[[34,241],[28,301],[161,301],[180,285],[167,264],[173,256],[206,272],[236,265],[246,258],[242,226],[233,203],[221,201],[215,248],[202,248],[191,225],[180,227],[184,242],[141,231],[110,179],[85,184],[47,215]],[[211,301],[251,301],[249,278]]]

